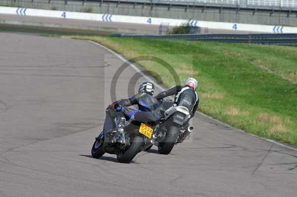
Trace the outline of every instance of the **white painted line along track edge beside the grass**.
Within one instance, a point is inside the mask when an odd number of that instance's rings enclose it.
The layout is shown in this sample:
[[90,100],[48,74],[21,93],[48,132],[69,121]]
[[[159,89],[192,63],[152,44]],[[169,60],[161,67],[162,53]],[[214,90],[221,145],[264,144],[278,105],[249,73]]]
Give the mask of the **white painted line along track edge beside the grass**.
[[[118,57],[119,59],[121,59],[123,62],[127,62],[127,61],[128,61],[126,58],[124,58],[124,57],[121,56],[120,54],[116,53],[115,51],[111,50],[110,48],[107,48],[106,46],[103,46],[102,44],[99,44],[99,43],[97,43],[97,42],[95,42],[95,41],[92,41],[92,40],[88,40],[88,41],[89,41],[89,42],[92,42],[92,43],[94,43],[94,44],[96,44],[96,45],[98,45],[98,46],[100,46],[100,47],[102,47],[102,48],[104,48],[104,49],[106,49],[106,50],[108,50],[110,53],[112,53],[112,54],[114,54],[115,56],[117,56],[117,57]],[[131,66],[136,72],[141,73],[142,76],[144,76],[146,79],[148,79],[148,80],[152,80],[152,77],[150,78],[150,77],[144,75],[144,74],[142,73],[142,71],[141,71],[136,65],[134,65],[134,64],[131,63],[130,66]],[[160,90],[162,90],[162,91],[165,90],[165,88],[162,87],[162,86],[159,85],[159,84],[155,84],[155,86],[158,87],[158,88],[159,88]],[[238,130],[238,131],[244,132],[244,133],[246,133],[246,134],[248,134],[248,135],[251,135],[251,136],[253,136],[253,137],[260,138],[260,139],[266,140],[266,141],[268,141],[268,142],[272,142],[272,143],[274,143],[274,144],[277,144],[277,145],[279,145],[279,146],[286,147],[286,148],[288,148],[288,149],[292,149],[292,150],[297,151],[296,148],[287,146],[287,145],[285,145],[285,144],[276,142],[276,141],[274,141],[274,140],[266,139],[266,138],[263,138],[263,137],[259,137],[259,136],[253,135],[253,134],[251,134],[251,133],[247,133],[247,132],[245,132],[244,130],[235,128],[235,127],[233,127],[233,126],[230,126],[229,124],[226,124],[226,123],[224,123],[224,122],[221,122],[220,120],[217,120],[217,119],[215,119],[215,118],[212,118],[212,117],[210,117],[210,116],[207,116],[206,114],[203,114],[202,112],[198,112],[198,111],[197,111],[196,113],[198,113],[198,114],[200,114],[200,115],[202,115],[202,116],[204,116],[204,117],[206,117],[206,118],[212,119],[212,120],[216,121],[217,123],[220,123],[220,124],[222,124],[222,125],[224,125],[224,126],[227,126],[227,127],[229,127],[229,128],[232,128],[232,129],[234,129],[234,130]]]

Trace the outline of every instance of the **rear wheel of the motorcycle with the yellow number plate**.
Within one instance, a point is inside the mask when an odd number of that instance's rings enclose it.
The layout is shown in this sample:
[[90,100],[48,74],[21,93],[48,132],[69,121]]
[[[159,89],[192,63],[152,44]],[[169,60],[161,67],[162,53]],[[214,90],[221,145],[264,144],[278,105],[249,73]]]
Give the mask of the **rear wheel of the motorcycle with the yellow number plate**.
[[117,155],[117,160],[121,163],[130,163],[130,161],[139,153],[143,146],[144,139],[135,137],[126,150],[121,150]]

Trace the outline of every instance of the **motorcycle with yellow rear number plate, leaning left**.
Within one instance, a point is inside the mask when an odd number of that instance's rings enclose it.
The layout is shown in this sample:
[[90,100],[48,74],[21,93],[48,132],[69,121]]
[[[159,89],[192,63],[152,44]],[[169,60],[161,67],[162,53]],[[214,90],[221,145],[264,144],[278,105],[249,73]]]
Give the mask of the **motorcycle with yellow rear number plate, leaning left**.
[[[117,155],[117,160],[129,163],[140,151],[149,149],[153,131],[157,130],[159,117],[154,113],[138,112],[131,117],[107,108],[113,119],[113,129],[102,131],[92,147],[92,156],[100,158],[104,153]],[[128,120],[127,120],[127,119]]]

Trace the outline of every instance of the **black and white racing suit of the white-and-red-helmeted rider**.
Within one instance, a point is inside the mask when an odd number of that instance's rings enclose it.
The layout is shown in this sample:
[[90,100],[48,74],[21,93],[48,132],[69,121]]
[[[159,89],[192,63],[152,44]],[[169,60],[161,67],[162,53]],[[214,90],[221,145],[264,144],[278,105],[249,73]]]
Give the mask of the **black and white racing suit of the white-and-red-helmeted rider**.
[[199,98],[196,91],[190,86],[177,85],[167,91],[160,92],[155,98],[163,99],[171,95],[175,95],[175,104],[188,108],[191,118],[193,118],[199,104]]

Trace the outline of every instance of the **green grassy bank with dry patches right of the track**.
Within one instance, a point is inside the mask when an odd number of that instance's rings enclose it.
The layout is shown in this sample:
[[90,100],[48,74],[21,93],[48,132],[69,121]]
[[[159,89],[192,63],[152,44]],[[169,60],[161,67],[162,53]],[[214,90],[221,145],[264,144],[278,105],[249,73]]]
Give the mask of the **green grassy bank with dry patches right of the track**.
[[[297,146],[297,47],[73,38],[97,41],[126,58],[135,57],[132,54],[160,56],[181,79],[188,76],[198,79],[199,111],[249,133]],[[158,64],[141,64],[148,70],[163,73]],[[158,77],[156,73],[152,75]],[[164,84],[172,86],[173,79],[165,77]]]

